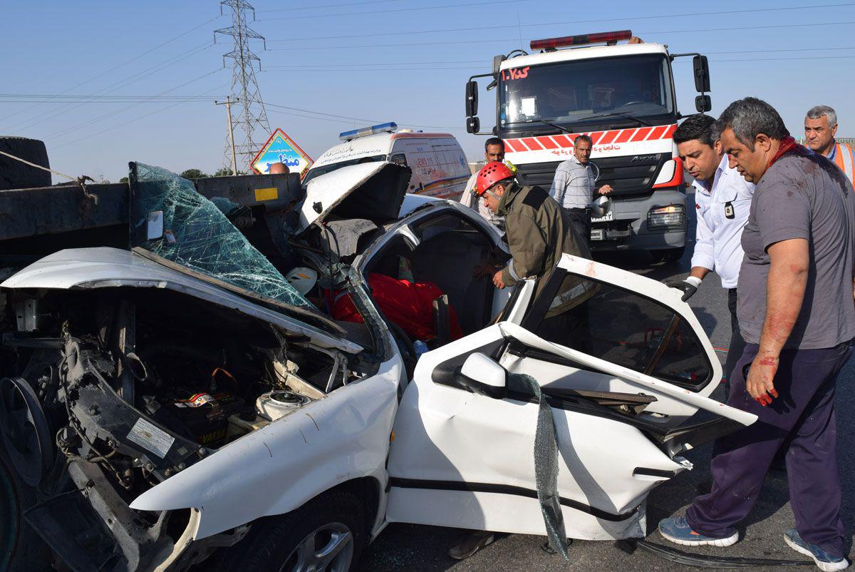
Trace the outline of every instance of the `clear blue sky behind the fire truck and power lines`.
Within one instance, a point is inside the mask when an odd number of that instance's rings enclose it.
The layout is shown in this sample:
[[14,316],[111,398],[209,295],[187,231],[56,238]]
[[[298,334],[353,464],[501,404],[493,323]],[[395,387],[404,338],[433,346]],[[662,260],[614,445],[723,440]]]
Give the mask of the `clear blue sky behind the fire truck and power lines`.
[[[479,158],[483,138],[463,129],[463,85],[470,74],[488,71],[494,54],[519,48],[521,39],[528,48],[530,39],[626,28],[672,52],[708,55],[713,114],[754,95],[775,105],[798,136],[805,110],[829,104],[838,112],[840,134],[855,136],[855,2],[251,3],[252,27],[267,39],[267,51],[255,44],[265,102],[327,114],[267,109],[271,128],[285,130],[313,157],[335,144],[340,131],[369,119],[447,131],[469,158]],[[216,170],[223,164],[226,116],[214,99],[227,95],[232,72],[221,69],[229,39],[219,37],[214,45],[213,30],[230,25],[227,10],[218,17],[216,0],[48,1],[38,4],[37,14],[32,3],[5,0],[0,38],[12,57],[0,67],[0,94],[27,97],[0,97],[0,134],[44,140],[51,165],[75,176],[117,181],[131,160],[176,171]],[[691,63],[674,69],[678,107],[691,113]],[[140,96],[164,92],[192,101],[140,103]],[[32,103],[34,94],[61,93],[127,100]],[[493,119],[481,96],[488,128]],[[13,99],[30,103],[9,103]]]

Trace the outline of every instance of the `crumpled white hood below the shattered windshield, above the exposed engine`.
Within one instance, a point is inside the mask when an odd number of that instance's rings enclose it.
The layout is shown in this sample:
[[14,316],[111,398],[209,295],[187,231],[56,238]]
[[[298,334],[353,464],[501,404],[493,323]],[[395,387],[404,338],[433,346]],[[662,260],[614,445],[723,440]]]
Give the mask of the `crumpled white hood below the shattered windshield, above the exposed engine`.
[[320,328],[254,304],[213,284],[175,271],[137,253],[119,248],[61,250],[34,262],[3,283],[9,289],[162,288],[192,295],[218,306],[264,319],[293,334],[309,337],[324,348],[357,354],[363,348]]

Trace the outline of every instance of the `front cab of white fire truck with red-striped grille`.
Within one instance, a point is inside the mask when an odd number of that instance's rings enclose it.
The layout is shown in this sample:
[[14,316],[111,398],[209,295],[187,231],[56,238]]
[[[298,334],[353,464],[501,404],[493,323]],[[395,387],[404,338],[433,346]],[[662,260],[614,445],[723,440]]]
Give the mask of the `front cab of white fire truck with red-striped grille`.
[[[496,134],[505,158],[527,184],[550,188],[558,164],[573,155],[580,134],[593,140],[597,186],[614,190],[612,207],[594,218],[591,245],[600,250],[650,251],[654,259],[680,259],[686,245],[686,185],[673,134],[676,108],[671,62],[694,56],[699,111],[711,109],[709,68],[699,54],[669,54],[625,30],[536,40],[493,58],[490,74],[466,88],[467,130]],[[636,43],[637,42],[637,43]],[[599,44],[599,45],[596,45]],[[563,48],[563,49],[559,49]],[[496,90],[496,124],[481,133],[478,78]]]

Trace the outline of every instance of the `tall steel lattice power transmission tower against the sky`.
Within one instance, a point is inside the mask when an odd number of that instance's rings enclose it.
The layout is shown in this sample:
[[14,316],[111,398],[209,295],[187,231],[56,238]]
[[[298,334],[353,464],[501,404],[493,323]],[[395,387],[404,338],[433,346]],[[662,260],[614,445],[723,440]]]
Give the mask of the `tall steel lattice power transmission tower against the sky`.
[[[257,63],[258,69],[261,70],[262,63],[250,49],[250,40],[260,39],[264,42],[264,37],[246,25],[248,11],[252,12],[253,21],[256,17],[255,9],[250,3],[245,0],[222,0],[221,12],[223,6],[232,9],[232,25],[215,30],[214,39],[216,41],[216,34],[221,33],[231,36],[234,40],[233,50],[223,55],[223,63],[225,64],[225,58],[232,58],[231,98],[238,102],[235,104],[238,114],[234,122],[233,143],[238,155],[238,169],[249,171],[250,161],[270,134],[270,123],[256,79],[255,65]],[[264,44],[264,47],[266,49],[267,45]],[[232,141],[227,141],[223,165],[230,165],[231,158]]]

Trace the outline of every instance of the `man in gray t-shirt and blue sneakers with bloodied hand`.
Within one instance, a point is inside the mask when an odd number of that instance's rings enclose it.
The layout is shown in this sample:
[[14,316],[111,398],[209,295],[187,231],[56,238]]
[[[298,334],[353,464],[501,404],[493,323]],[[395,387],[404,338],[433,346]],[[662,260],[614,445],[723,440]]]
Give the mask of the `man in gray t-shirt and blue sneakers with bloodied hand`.
[[746,349],[728,405],[758,420],[716,442],[712,491],[659,530],[681,545],[734,544],[783,446],[795,515],[784,540],[820,569],[845,569],[834,389],[855,337],[855,193],[764,101],[735,101],[717,127],[731,164],[757,183],[737,304]]

